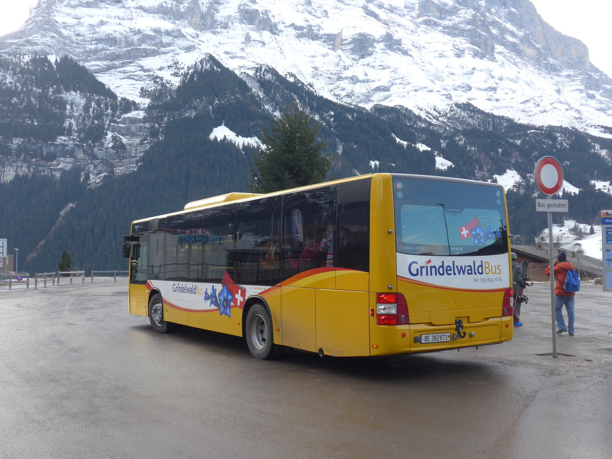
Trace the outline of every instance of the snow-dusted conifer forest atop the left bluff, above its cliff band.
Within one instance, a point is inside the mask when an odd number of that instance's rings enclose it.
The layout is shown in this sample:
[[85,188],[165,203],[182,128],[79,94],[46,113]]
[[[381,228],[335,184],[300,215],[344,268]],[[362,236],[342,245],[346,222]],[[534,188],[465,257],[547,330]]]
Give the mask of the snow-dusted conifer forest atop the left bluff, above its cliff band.
[[[80,143],[97,143],[115,119],[136,108],[118,98],[83,65],[64,56],[54,63],[47,56],[10,59],[0,55],[0,155],[9,155],[12,138],[53,142],[76,136]],[[68,103],[67,103],[68,101]],[[71,122],[64,125],[66,116]],[[40,149],[21,147],[13,154],[40,158]]]

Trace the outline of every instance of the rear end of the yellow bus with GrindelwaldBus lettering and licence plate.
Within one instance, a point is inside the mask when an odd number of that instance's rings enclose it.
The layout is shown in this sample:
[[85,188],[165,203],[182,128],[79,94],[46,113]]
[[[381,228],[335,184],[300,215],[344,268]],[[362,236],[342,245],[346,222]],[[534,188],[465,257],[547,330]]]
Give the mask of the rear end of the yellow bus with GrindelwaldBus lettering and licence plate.
[[[373,293],[371,355],[512,339],[506,196],[501,185],[390,174],[381,177],[378,187],[381,201],[377,203],[373,193],[372,208],[388,208],[393,221],[387,233],[394,237],[373,244],[379,245],[376,252],[394,252],[397,273],[396,285],[377,285]],[[393,250],[386,247],[391,243]],[[373,263],[383,266],[385,261],[376,257],[373,254]]]

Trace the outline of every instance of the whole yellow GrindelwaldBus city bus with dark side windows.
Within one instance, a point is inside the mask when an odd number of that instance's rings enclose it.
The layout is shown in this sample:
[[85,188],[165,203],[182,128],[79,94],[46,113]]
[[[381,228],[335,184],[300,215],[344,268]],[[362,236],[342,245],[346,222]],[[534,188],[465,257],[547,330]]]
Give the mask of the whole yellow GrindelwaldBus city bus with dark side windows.
[[512,339],[501,185],[369,174],[229,193],[132,223],[129,310],[321,356],[381,356]]

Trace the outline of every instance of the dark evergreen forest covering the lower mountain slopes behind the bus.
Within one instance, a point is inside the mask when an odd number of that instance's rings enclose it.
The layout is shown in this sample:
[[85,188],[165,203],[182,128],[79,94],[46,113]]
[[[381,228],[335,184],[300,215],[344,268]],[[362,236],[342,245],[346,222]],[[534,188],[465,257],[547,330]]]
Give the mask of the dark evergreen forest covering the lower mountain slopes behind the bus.
[[[518,124],[465,104],[439,123],[401,107],[340,105],[267,67],[247,84],[211,56],[184,72],[176,88],[156,78],[143,89],[151,99],[143,138],[149,147],[138,169],[88,187],[88,172],[78,168],[63,171],[59,179],[35,171],[55,159],[43,154],[53,149],[41,145],[56,143],[59,136],[75,136],[85,147],[99,143],[109,134],[110,120],[136,103],[118,98],[69,58],[0,56],[0,78],[0,162],[20,157],[32,164],[30,177],[0,184],[0,237],[19,248],[20,271],[54,271],[63,250],[74,269],[127,269],[121,244],[132,220],[248,190],[256,148],[211,140],[212,130],[225,125],[244,138],[262,138],[275,114],[295,101],[317,119],[320,139],[329,143],[326,153],[334,162],[328,178],[380,171],[486,181],[509,169],[526,177],[537,159],[551,155],[562,163],[565,180],[581,188],[561,196],[569,200],[570,211],[555,214],[558,221],[597,223],[600,209],[612,208],[610,194],[591,184],[612,177],[609,154],[600,154],[612,151],[612,140]],[[71,106],[70,100],[78,104]],[[455,166],[436,169],[436,155]],[[533,244],[547,226],[546,214],[535,212],[536,196],[529,182],[507,192],[510,233],[523,244]]]

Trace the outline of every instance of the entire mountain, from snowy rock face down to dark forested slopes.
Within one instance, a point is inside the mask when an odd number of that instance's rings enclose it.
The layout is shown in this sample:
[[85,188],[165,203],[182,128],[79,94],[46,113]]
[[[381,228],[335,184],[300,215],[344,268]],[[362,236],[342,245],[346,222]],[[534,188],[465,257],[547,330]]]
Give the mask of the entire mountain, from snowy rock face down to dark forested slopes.
[[[0,37],[0,187],[12,196],[0,207],[15,216],[0,230],[32,269],[66,248],[113,269],[110,237],[135,215],[245,190],[262,133],[298,101],[329,144],[330,176],[497,181],[515,239],[531,244],[546,225],[537,157],[562,163],[568,218],[590,229],[612,208],[598,191],[612,177],[611,88],[526,0],[40,0]],[[51,196],[36,233],[21,212],[32,193]]]

